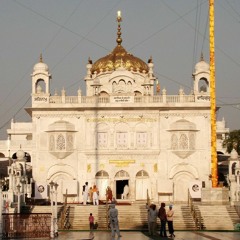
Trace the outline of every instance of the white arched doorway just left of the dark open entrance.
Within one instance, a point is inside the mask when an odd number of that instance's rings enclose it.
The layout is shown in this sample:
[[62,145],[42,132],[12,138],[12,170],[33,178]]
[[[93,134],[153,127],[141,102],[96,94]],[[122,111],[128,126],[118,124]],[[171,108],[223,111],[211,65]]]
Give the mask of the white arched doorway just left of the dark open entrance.
[[95,178],[99,190],[99,200],[106,200],[106,189],[109,186],[109,174],[101,170],[96,173]]

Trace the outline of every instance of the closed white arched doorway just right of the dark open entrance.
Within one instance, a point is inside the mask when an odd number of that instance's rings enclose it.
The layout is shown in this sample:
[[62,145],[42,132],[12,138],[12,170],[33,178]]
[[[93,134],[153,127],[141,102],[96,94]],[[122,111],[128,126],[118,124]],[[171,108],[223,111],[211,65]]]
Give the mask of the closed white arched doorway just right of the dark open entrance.
[[146,200],[147,194],[151,199],[151,183],[148,173],[141,170],[136,174],[136,200]]

